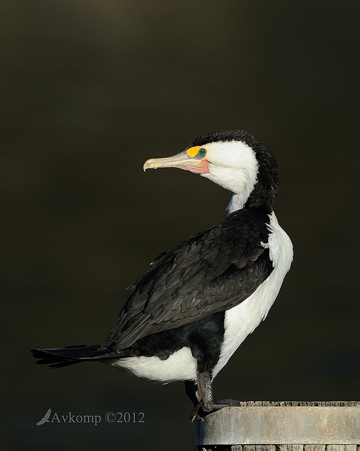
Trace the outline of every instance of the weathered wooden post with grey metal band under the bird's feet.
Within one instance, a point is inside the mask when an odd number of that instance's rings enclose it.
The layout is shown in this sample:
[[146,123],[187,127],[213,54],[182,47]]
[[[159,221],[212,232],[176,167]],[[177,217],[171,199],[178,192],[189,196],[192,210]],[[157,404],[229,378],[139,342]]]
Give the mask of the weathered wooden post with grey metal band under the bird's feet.
[[197,421],[195,451],[360,451],[360,402],[243,402]]

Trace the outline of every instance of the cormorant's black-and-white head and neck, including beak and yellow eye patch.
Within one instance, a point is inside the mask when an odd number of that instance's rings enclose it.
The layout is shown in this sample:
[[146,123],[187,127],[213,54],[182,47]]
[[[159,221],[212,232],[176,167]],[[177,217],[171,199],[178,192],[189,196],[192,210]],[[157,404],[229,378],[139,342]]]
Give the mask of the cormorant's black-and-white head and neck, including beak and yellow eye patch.
[[200,174],[233,192],[237,208],[271,211],[278,188],[273,154],[245,130],[201,135],[184,152],[147,160],[143,169],[148,168],[180,168]]

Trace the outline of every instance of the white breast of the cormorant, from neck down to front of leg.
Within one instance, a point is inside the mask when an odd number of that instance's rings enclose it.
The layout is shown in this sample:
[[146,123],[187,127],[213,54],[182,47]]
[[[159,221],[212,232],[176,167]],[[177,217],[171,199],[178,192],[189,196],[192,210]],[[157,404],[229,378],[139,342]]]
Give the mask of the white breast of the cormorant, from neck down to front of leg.
[[269,247],[274,270],[248,299],[226,311],[224,343],[221,345],[219,362],[214,367],[212,379],[226,365],[243,340],[266,318],[290,269],[293,261],[293,244],[279,226],[274,211],[270,215],[269,231],[269,244],[266,243],[264,247]]

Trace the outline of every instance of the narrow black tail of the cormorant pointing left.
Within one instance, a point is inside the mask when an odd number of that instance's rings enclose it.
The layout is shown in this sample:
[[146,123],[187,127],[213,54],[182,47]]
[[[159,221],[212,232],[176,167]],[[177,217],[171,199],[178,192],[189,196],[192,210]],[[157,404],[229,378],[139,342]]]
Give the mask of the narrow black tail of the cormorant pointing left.
[[117,352],[105,346],[66,346],[55,349],[32,350],[32,357],[39,365],[50,365],[50,368],[61,368],[80,362],[101,361],[120,357]]

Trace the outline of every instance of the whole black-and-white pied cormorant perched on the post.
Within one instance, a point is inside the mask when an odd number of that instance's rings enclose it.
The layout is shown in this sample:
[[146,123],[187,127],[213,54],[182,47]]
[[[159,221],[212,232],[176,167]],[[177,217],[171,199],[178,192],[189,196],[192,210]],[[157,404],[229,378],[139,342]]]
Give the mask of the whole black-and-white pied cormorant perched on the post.
[[185,381],[192,419],[236,405],[212,382],[259,325],[293,260],[273,211],[273,154],[244,130],[202,135],[143,168],[181,168],[231,190],[228,216],[160,254],[137,282],[103,346],[33,350],[53,367],[98,361],[150,381]]

